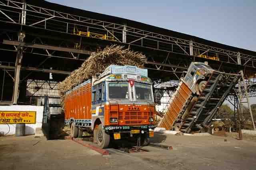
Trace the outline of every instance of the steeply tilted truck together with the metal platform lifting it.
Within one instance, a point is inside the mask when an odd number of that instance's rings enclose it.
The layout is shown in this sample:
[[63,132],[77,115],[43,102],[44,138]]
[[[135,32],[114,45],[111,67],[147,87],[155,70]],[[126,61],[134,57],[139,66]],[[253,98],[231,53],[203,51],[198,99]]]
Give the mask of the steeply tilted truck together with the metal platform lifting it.
[[207,62],[192,62],[158,127],[186,133],[209,132],[210,122],[240,77],[216,71]]

